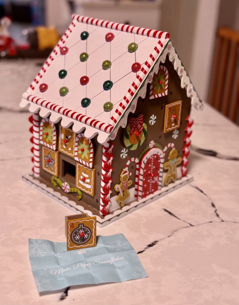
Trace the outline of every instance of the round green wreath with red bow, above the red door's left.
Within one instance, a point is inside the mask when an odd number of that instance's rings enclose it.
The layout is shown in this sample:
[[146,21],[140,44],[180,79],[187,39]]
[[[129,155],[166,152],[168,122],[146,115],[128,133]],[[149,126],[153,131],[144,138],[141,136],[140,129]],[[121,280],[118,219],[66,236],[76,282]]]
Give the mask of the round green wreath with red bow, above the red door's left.
[[144,123],[144,115],[129,117],[123,136],[125,147],[130,150],[139,148],[144,143],[146,134],[147,125]]

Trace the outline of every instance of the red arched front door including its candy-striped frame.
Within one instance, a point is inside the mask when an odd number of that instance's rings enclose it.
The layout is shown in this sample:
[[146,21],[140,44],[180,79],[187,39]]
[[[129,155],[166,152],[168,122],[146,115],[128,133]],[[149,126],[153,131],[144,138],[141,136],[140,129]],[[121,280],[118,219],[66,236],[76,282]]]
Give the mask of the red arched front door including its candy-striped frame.
[[140,162],[137,199],[143,199],[162,187],[164,153],[159,148],[146,152]]

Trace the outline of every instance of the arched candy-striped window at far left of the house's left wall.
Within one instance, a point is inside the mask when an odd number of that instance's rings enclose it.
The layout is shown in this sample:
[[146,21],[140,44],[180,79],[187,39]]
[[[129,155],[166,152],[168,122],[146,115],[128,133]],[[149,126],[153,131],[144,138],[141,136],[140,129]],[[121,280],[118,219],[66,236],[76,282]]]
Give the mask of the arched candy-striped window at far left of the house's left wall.
[[56,150],[57,131],[56,126],[49,119],[42,119],[40,124],[40,144]]

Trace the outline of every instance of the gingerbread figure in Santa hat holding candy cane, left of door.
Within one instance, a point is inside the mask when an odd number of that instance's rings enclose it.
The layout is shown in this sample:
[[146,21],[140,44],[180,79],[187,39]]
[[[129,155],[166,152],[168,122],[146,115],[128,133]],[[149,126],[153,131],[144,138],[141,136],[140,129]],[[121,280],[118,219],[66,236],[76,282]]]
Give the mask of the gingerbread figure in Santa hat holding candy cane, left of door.
[[130,173],[123,168],[119,178],[120,184],[114,186],[115,191],[119,192],[116,201],[119,202],[120,207],[125,205],[125,200],[130,196],[128,187],[132,184],[132,180],[129,180],[129,178]]

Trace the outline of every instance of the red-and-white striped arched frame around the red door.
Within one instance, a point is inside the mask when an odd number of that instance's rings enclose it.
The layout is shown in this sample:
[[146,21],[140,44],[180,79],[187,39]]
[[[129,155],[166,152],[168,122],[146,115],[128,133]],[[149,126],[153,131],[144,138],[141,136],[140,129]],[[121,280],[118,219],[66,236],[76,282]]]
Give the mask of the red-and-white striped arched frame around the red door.
[[158,190],[162,188],[162,181],[163,181],[163,166],[164,166],[164,152],[158,148],[154,147],[151,148],[146,152],[146,154],[143,156],[140,162],[140,174],[139,174],[139,187],[138,187],[138,193],[137,193],[137,199],[142,199],[142,189],[143,189],[143,176],[144,176],[144,166],[147,160],[154,154],[157,154],[160,158],[160,167],[159,167],[159,180],[158,180]]

